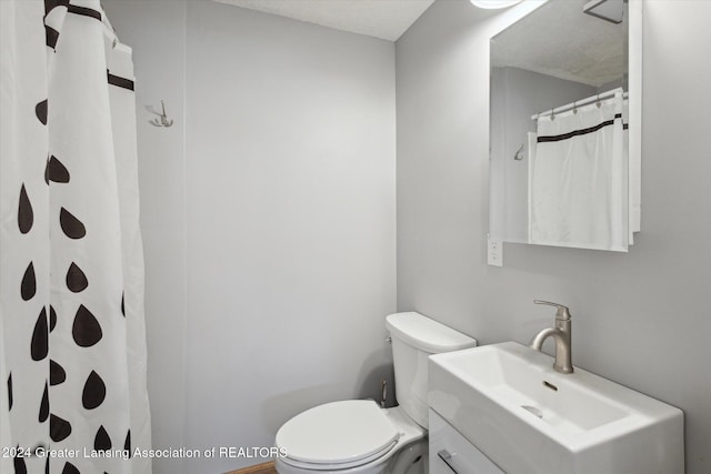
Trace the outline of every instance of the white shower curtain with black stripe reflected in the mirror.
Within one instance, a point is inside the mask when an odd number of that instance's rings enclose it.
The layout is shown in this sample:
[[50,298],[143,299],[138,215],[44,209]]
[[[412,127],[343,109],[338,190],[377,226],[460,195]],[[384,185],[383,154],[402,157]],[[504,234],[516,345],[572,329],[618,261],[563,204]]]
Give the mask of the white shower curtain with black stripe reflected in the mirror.
[[529,163],[529,239],[543,245],[627,252],[628,159],[622,90],[538,120]]

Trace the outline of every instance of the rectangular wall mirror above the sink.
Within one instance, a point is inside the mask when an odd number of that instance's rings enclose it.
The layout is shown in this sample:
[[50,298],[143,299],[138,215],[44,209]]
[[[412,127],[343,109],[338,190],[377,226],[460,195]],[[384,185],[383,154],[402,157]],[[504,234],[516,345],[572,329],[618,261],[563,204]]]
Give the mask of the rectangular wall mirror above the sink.
[[549,0],[491,38],[492,240],[627,252],[640,230],[642,2],[607,2],[621,18]]

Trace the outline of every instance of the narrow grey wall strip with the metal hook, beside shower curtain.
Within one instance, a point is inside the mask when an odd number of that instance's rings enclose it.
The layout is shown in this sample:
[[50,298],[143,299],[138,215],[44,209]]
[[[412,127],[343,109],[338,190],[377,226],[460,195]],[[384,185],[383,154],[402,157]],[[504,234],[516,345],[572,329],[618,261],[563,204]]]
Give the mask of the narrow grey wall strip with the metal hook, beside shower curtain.
[[[103,0],[121,41],[133,47],[141,231],[146,260],[148,390],[154,447],[186,443],[186,212],[183,1]],[[149,123],[166,101],[172,128]],[[159,460],[154,472],[183,472]]]

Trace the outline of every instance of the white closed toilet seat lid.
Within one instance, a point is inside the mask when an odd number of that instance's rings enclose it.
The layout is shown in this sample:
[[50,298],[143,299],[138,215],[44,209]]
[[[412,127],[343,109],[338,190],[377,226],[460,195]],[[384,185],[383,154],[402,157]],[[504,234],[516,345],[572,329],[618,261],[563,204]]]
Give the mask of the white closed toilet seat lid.
[[316,406],[277,433],[283,462],[313,471],[356,467],[385,455],[400,433],[373,401],[347,400]]

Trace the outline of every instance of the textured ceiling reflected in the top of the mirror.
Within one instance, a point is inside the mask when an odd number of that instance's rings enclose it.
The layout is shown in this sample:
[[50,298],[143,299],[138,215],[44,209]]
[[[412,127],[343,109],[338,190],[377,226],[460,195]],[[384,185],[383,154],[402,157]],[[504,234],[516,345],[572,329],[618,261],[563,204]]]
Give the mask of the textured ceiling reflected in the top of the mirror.
[[493,65],[600,87],[625,70],[627,14],[613,24],[583,13],[587,0],[550,0],[491,42]]

